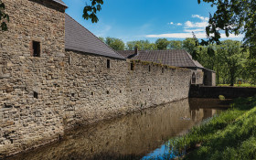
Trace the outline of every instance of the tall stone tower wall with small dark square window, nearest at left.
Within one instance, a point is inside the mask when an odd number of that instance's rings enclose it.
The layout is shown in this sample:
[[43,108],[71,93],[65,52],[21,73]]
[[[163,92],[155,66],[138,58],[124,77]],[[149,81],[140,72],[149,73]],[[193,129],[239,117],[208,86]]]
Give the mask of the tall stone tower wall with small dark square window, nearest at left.
[[[10,22],[0,33],[0,156],[63,134],[61,90],[55,84],[65,56],[65,8],[49,0],[3,2]],[[33,40],[40,42],[40,58],[31,56]]]

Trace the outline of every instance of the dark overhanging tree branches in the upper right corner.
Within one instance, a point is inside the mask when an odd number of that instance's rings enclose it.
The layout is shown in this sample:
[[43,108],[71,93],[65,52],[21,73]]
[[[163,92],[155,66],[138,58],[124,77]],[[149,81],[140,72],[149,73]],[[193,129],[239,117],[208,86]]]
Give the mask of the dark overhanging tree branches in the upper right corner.
[[[197,0],[200,4],[201,0]],[[250,48],[251,58],[256,57],[256,1],[255,0],[203,0],[217,6],[217,11],[210,15],[206,27],[208,41],[206,45],[216,41],[219,44],[221,31],[229,34],[244,34],[244,46]]]

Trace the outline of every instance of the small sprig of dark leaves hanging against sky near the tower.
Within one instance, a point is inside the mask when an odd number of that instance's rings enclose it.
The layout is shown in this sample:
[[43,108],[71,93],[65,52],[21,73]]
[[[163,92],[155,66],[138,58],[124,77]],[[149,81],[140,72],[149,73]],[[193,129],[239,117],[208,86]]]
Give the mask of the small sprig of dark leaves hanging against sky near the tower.
[[101,11],[101,5],[103,5],[103,0],[90,0],[91,4],[86,5],[83,9],[82,17],[86,20],[91,19],[92,23],[97,23],[99,21],[97,12]]

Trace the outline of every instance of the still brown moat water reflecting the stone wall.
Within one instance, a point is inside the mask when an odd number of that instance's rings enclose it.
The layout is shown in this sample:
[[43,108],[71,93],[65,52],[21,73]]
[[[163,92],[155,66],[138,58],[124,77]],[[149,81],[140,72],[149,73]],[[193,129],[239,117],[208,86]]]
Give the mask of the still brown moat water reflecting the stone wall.
[[7,159],[146,159],[165,153],[169,138],[223,112],[229,101],[186,99],[69,132],[59,142]]

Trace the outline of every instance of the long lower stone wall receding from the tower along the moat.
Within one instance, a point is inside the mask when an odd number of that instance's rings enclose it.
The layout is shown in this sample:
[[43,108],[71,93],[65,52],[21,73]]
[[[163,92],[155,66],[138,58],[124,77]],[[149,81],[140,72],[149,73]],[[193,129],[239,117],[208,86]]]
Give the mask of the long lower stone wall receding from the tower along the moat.
[[[67,51],[63,79],[64,125],[94,123],[188,97],[190,70]],[[149,71],[150,68],[150,71]]]

